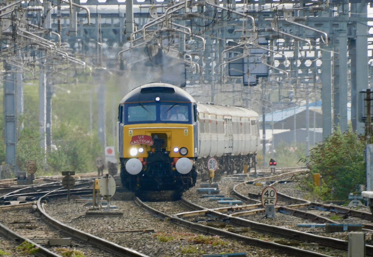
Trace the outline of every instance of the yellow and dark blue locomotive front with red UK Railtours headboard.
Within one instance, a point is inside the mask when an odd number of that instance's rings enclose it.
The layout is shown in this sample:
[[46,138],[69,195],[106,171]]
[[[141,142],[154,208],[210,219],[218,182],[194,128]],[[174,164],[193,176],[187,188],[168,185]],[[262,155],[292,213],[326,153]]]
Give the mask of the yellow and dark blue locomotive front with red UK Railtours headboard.
[[197,106],[181,88],[151,83],[135,88],[119,105],[120,176],[134,192],[195,185]]

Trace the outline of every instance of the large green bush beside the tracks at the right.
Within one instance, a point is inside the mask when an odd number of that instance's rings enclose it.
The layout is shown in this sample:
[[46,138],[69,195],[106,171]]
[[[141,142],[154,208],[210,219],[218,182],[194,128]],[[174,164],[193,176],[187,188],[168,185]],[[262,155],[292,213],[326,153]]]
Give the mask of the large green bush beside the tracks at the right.
[[335,131],[317,144],[308,157],[307,166],[311,174],[320,173],[322,186],[315,186],[313,176],[308,176],[303,188],[310,189],[321,200],[347,201],[350,192],[356,192],[359,185],[366,184],[364,148],[363,139],[351,128],[345,133]]

